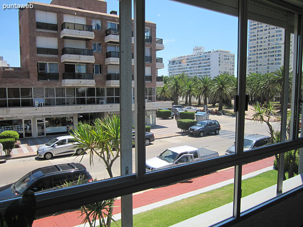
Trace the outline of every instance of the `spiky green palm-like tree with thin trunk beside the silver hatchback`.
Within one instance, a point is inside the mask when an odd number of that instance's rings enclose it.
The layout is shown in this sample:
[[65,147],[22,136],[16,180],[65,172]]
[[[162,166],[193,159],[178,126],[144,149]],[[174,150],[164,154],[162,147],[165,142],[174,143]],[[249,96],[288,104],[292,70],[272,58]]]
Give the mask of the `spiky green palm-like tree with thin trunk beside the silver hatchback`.
[[[83,154],[89,154],[90,165],[96,155],[103,160],[110,178],[113,178],[112,166],[120,155],[120,117],[113,115],[102,120],[95,119],[92,125],[80,122],[77,129],[72,131],[76,147],[82,148]],[[109,203],[106,226],[111,226],[114,200],[111,199]]]

